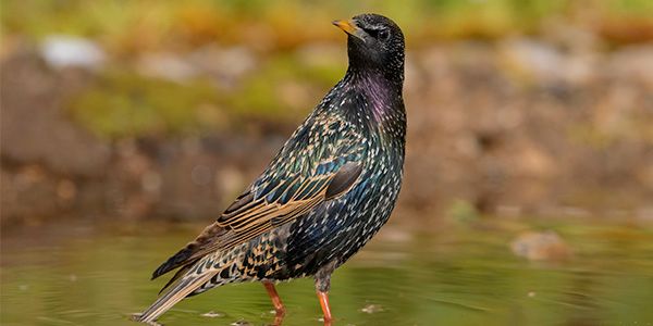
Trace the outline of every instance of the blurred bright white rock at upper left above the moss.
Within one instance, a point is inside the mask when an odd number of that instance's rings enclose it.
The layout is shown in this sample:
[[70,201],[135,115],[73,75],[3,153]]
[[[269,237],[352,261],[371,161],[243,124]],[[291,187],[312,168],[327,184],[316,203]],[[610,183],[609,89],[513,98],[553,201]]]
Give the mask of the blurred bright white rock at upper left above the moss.
[[41,57],[49,66],[56,68],[98,70],[104,63],[107,55],[89,39],[70,35],[50,35],[41,43]]

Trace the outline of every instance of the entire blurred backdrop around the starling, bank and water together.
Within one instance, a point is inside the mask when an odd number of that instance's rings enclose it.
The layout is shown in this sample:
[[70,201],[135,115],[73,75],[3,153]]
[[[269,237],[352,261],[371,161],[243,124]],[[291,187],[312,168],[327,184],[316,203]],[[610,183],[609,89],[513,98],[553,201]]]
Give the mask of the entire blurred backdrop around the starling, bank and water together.
[[[344,75],[331,22],[362,12],[406,35],[407,156],[390,225],[335,274],[336,321],[653,321],[653,1],[0,11],[2,325],[128,324],[161,286],[151,269]],[[284,325],[317,323],[310,283],[280,287]],[[164,322],[270,323],[259,287],[198,296]]]

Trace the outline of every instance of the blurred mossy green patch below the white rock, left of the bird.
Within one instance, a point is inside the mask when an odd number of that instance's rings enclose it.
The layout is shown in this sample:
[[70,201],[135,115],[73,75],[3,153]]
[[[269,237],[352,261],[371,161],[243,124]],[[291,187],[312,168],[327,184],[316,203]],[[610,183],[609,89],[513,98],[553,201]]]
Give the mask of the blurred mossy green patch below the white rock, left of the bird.
[[103,137],[181,133],[201,127],[197,112],[217,102],[206,82],[187,85],[112,72],[71,100],[73,117]]

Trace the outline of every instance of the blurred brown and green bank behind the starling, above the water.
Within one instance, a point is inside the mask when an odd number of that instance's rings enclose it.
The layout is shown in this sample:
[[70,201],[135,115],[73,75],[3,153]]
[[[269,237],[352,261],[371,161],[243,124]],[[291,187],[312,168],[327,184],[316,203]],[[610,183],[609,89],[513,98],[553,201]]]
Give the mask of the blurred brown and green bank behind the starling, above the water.
[[44,0],[2,4],[2,224],[217,216],[366,11],[407,37],[406,220],[653,218],[651,1]]

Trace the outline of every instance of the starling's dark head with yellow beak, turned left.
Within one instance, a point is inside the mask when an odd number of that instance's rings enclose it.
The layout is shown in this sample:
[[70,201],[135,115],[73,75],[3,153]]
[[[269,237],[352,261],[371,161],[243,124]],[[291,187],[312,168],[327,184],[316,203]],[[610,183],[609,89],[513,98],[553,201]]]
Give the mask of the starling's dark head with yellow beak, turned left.
[[379,71],[404,79],[404,34],[397,24],[378,14],[361,14],[333,25],[347,34],[349,68]]

